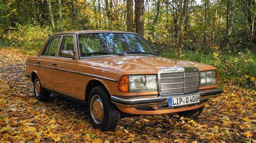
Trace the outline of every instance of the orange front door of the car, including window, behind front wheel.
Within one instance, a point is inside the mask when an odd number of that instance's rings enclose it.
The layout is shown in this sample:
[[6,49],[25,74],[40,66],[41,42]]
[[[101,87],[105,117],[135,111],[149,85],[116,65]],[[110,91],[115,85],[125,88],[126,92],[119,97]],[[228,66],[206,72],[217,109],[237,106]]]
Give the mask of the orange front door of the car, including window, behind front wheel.
[[75,70],[77,60],[73,58],[64,58],[60,51],[72,50],[75,53],[75,35],[63,35],[60,43],[56,60],[52,63],[52,84],[53,90],[62,94],[75,96]]

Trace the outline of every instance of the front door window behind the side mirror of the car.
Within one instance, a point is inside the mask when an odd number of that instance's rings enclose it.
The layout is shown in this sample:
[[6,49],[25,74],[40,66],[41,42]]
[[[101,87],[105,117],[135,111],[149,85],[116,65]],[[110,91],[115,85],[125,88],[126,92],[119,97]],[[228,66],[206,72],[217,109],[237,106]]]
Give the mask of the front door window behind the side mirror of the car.
[[62,50],[72,50],[72,51],[74,51],[74,40],[73,39],[74,38],[73,38],[72,35],[63,37],[62,44],[60,44],[58,56],[60,56],[60,51],[62,51]]

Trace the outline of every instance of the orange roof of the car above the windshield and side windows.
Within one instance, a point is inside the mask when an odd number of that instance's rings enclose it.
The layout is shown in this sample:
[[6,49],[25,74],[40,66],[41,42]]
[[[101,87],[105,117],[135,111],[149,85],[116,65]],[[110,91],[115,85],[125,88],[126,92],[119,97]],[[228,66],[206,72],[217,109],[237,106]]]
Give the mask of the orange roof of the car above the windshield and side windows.
[[111,30],[80,30],[80,31],[69,31],[69,32],[60,32],[53,34],[55,35],[64,35],[64,34],[79,34],[79,33],[126,33],[126,34],[138,34],[134,32],[126,32],[126,31],[111,31]]

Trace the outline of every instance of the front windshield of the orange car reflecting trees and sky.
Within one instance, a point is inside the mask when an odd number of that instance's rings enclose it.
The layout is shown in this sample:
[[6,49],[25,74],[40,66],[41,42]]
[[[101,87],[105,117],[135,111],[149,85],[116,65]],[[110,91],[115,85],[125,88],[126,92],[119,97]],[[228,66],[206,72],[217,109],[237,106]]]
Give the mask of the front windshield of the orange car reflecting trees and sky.
[[153,54],[144,39],[127,33],[82,33],[78,35],[80,57],[109,54]]

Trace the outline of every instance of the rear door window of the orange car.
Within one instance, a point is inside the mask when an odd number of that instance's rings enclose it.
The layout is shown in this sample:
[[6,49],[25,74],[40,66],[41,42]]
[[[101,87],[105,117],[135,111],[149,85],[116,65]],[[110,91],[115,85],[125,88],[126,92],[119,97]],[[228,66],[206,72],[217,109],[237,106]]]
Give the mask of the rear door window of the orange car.
[[61,37],[52,38],[51,42],[49,42],[48,45],[45,47],[42,55],[55,56],[60,38]]

